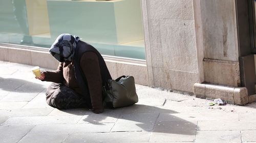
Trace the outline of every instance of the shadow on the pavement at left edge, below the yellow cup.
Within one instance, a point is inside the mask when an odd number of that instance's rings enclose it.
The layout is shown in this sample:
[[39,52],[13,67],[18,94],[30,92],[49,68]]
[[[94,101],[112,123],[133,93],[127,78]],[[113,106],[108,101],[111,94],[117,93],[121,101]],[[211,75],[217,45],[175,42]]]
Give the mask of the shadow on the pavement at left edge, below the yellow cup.
[[0,77],[0,90],[5,91],[18,91],[18,92],[38,92],[42,89],[41,84],[29,82],[22,79],[1,78]]

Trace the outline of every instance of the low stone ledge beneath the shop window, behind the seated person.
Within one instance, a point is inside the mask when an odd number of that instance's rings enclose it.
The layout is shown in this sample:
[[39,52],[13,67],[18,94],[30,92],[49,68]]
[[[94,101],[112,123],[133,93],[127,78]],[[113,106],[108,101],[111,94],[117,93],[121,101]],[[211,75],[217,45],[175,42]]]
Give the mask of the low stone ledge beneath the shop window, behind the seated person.
[[[59,62],[49,54],[48,50],[47,48],[1,43],[0,61],[57,69]],[[135,78],[136,84],[148,85],[145,60],[102,56],[113,79],[129,75]]]

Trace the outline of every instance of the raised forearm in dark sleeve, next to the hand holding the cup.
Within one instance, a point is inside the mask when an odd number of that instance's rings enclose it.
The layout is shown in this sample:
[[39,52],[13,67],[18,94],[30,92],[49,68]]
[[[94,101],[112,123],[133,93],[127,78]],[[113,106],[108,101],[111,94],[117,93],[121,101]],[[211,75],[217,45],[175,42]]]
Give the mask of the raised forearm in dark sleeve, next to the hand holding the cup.
[[42,81],[49,81],[49,82],[54,82],[54,83],[62,83],[63,81],[63,63],[59,63],[59,66],[57,68],[57,70],[55,71],[42,71],[41,75],[44,75],[44,79],[42,79]]

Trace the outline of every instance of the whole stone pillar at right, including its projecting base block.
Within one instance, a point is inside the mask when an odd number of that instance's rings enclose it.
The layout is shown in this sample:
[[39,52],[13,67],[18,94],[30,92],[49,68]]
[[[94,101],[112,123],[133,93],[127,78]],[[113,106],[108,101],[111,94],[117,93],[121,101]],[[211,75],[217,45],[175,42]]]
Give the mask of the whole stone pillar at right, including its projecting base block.
[[[196,4],[196,5],[195,5]],[[199,98],[221,98],[234,104],[248,103],[241,86],[236,3],[234,0],[194,0],[197,49],[203,52],[204,83],[195,83]],[[201,36],[202,35],[202,36]],[[203,51],[202,51],[203,50]]]

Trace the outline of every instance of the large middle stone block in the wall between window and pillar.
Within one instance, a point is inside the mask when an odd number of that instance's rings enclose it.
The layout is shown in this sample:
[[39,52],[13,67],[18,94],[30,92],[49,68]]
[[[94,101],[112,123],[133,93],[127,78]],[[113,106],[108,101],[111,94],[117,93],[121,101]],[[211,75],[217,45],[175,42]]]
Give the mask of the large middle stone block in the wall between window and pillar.
[[164,68],[197,73],[194,20],[160,19],[160,22]]

